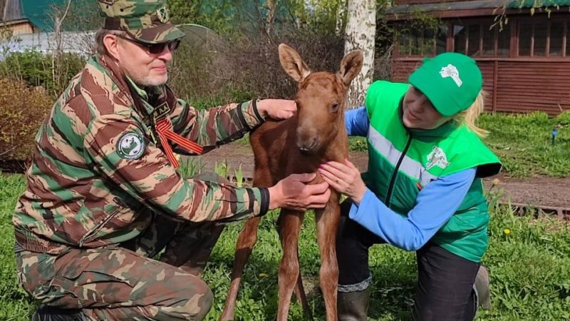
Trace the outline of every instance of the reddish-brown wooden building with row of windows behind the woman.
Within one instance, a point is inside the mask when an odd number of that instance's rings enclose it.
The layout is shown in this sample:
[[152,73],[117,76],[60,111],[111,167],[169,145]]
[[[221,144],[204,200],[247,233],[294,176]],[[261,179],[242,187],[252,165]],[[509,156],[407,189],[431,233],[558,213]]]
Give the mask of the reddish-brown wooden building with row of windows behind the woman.
[[407,81],[423,56],[456,51],[480,66],[488,111],[570,111],[569,0],[395,2],[393,81]]

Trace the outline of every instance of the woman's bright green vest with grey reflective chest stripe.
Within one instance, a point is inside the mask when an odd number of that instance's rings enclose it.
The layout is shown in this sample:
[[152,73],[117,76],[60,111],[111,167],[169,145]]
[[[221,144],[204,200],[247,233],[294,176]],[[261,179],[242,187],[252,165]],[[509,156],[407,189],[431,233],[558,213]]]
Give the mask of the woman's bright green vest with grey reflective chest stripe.
[[371,125],[366,183],[385,205],[405,216],[432,180],[477,168],[457,212],[431,240],[462,258],[480,262],[487,250],[489,223],[482,178],[499,173],[499,159],[467,126],[454,121],[429,131],[405,128],[400,103],[409,86],[376,81],[368,88],[366,110]]

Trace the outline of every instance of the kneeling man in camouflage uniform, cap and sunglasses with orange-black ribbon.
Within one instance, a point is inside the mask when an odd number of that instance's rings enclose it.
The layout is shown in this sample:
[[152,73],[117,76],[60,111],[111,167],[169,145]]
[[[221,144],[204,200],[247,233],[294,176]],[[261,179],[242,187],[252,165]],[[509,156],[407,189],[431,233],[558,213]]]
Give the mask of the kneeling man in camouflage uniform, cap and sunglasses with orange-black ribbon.
[[99,0],[98,54],[36,135],[13,218],[19,280],[43,303],[33,320],[202,320],[212,292],[199,275],[224,223],[330,195],[314,174],[269,188],[180,177],[172,151],[209,151],[296,106],[178,100],[165,82],[184,35],[165,2]]

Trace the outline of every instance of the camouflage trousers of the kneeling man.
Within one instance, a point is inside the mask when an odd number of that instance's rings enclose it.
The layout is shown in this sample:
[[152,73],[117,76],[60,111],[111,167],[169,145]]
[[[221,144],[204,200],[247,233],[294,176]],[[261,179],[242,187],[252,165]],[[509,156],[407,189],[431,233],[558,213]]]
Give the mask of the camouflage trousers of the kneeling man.
[[59,255],[16,250],[18,276],[37,300],[83,309],[90,320],[202,320],[213,295],[199,275],[223,228],[155,215],[125,244]]

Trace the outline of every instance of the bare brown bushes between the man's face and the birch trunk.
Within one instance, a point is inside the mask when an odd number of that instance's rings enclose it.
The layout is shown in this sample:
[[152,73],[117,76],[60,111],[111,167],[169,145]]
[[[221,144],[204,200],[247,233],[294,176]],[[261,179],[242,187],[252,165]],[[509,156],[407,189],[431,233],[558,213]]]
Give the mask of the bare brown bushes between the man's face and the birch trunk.
[[302,30],[278,36],[236,36],[206,49],[185,44],[177,51],[170,69],[170,86],[190,103],[293,98],[296,83],[281,68],[277,51],[280,43],[296,49],[315,71],[337,71],[343,57],[344,42],[340,37]]

